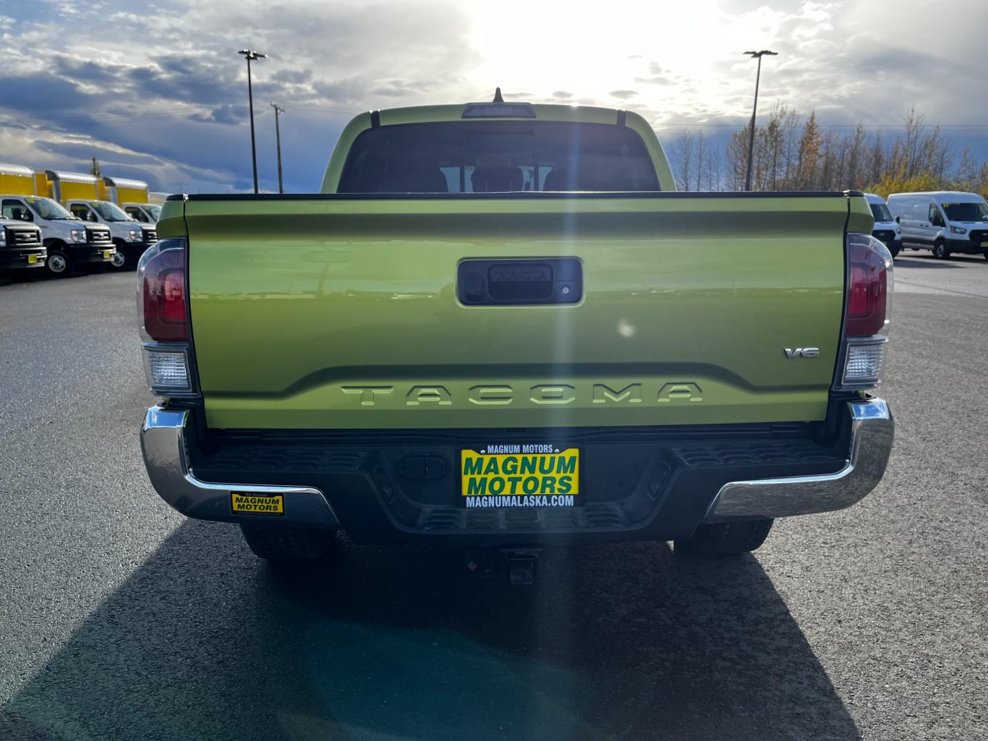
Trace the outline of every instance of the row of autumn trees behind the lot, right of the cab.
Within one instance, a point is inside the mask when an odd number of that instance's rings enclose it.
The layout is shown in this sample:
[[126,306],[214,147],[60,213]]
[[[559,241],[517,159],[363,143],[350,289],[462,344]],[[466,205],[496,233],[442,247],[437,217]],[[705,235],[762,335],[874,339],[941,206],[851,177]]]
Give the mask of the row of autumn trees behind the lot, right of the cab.
[[[710,137],[686,129],[672,148],[676,184],[684,191],[743,191],[751,124],[721,151]],[[888,198],[910,191],[972,191],[988,196],[988,162],[965,147],[959,157],[939,125],[910,109],[889,134],[826,129],[811,113],[800,119],[777,105],[755,126],[752,190],[859,190]]]

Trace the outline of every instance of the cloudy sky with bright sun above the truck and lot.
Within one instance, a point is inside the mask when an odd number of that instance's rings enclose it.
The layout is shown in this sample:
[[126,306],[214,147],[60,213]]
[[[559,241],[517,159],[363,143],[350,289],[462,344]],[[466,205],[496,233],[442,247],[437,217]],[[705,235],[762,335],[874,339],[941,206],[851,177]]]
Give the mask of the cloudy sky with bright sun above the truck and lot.
[[[0,0],[0,161],[139,177],[164,191],[251,188],[246,65],[261,187],[318,189],[350,117],[506,97],[642,113],[665,141],[724,137],[760,110],[891,131],[910,106],[988,157],[984,0]],[[940,27],[939,31],[933,31]],[[949,33],[943,33],[949,29]],[[842,128],[842,130],[844,130]]]

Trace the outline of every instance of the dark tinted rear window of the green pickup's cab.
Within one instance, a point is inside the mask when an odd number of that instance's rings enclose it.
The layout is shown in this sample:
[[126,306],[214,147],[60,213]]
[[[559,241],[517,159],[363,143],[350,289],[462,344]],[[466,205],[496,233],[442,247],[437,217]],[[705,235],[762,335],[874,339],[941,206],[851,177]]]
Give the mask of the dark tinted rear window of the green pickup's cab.
[[369,128],[355,140],[339,193],[658,191],[631,128],[470,121]]

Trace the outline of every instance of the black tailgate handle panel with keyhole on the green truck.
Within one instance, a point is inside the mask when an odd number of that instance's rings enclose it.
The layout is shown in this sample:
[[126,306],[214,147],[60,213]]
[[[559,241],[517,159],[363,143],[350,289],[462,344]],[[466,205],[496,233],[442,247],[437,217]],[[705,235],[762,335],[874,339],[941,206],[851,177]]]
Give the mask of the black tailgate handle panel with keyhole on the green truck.
[[456,294],[467,306],[577,303],[583,298],[583,264],[576,258],[462,260]]

